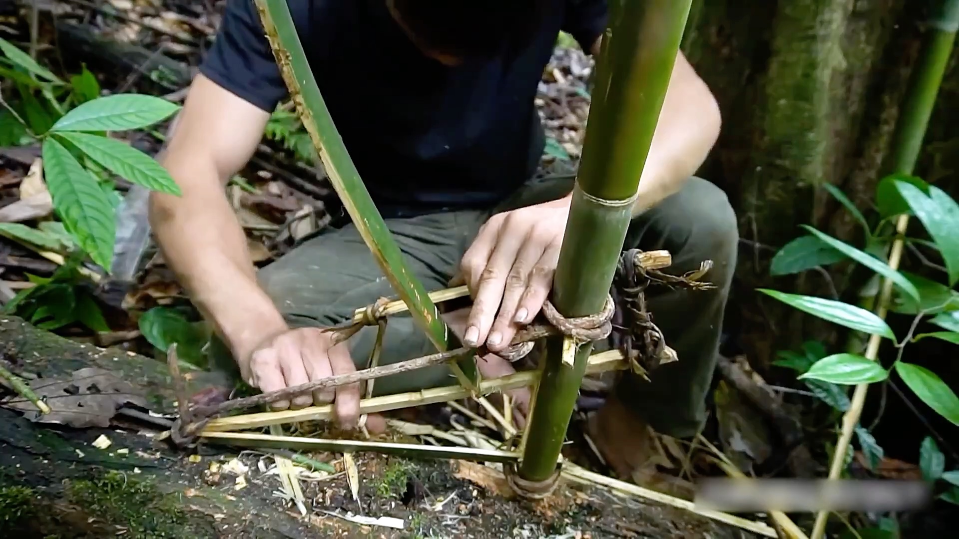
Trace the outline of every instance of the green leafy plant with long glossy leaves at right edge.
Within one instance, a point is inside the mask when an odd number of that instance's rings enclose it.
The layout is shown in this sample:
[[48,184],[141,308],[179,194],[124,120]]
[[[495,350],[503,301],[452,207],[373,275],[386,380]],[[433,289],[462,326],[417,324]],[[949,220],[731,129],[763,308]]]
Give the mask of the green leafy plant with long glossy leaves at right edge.
[[[883,367],[863,355],[840,353],[823,355],[814,363],[806,365],[800,378],[817,380],[840,386],[873,384],[883,382],[895,372],[902,383],[909,387],[929,408],[959,425],[959,397],[934,372],[924,366],[902,360],[902,351],[910,342],[922,339],[938,339],[959,344],[959,294],[952,288],[959,281],[959,204],[944,191],[927,184],[914,176],[888,176],[877,188],[879,222],[875,229],[854,204],[839,190],[830,187],[830,193],[839,200],[863,225],[867,248],[859,249],[830,235],[805,226],[809,235],[784,246],[773,259],[774,274],[795,273],[837,262],[852,260],[877,275],[890,279],[894,285],[891,308],[902,314],[915,316],[908,335],[897,340],[892,328],[875,313],[861,307],[809,295],[760,290],[809,315],[818,316],[832,323],[894,340],[899,354],[890,368]],[[912,275],[893,269],[884,258],[877,255],[893,240],[895,232],[889,223],[901,213],[915,216],[924,224],[931,241],[907,241],[933,247],[938,250],[945,264],[946,283]],[[872,248],[869,248],[872,246]],[[868,252],[872,251],[872,252]],[[921,322],[939,326],[945,331],[915,334]],[[795,360],[793,358],[793,360]],[[791,363],[795,367],[798,363]]]

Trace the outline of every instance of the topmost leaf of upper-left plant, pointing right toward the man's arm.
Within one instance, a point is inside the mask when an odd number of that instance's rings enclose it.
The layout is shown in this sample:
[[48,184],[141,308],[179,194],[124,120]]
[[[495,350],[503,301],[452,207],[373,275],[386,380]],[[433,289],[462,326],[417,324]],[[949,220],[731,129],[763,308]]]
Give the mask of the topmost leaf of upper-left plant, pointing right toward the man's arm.
[[141,129],[165,120],[179,105],[141,94],[116,94],[88,101],[67,112],[54,125],[62,131],[124,131]]

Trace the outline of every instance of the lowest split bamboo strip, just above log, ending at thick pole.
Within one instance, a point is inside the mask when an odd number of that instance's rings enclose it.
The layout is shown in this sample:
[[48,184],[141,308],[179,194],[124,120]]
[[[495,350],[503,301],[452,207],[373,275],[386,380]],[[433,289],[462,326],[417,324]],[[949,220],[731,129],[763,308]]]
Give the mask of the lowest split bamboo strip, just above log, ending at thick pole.
[[209,443],[240,446],[251,449],[292,449],[296,451],[331,453],[363,453],[375,451],[386,455],[413,458],[461,458],[480,462],[515,462],[519,454],[509,451],[476,449],[472,447],[431,446],[412,443],[377,442],[363,440],[331,440],[302,436],[274,436],[255,433],[204,433]]

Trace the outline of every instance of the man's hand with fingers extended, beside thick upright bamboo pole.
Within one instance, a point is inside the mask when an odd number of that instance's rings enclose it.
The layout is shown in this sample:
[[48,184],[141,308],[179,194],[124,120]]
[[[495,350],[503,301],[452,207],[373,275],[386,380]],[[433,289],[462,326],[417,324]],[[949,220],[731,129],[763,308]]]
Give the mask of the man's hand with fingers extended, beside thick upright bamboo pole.
[[463,255],[460,273],[473,294],[463,341],[503,350],[543,307],[566,232],[570,197],[494,215]]

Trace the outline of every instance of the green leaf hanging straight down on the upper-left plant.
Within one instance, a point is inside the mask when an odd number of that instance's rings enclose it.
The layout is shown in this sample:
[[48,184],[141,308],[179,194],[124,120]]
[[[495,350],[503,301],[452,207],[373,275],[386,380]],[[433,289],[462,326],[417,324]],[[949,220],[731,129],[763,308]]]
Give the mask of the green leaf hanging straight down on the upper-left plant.
[[54,208],[77,245],[109,271],[116,223],[97,182],[57,140],[43,141],[43,168]]

